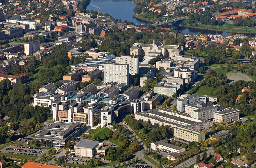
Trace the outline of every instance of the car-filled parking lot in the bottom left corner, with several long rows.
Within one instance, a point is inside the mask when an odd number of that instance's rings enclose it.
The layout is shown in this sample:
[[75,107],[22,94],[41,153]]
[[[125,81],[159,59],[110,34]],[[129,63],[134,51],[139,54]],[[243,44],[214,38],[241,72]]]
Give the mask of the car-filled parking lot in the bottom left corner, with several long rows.
[[2,153],[10,153],[10,154],[20,154],[20,155],[30,155],[30,156],[40,156],[43,152],[41,148],[31,148],[24,146],[7,146],[2,149]]

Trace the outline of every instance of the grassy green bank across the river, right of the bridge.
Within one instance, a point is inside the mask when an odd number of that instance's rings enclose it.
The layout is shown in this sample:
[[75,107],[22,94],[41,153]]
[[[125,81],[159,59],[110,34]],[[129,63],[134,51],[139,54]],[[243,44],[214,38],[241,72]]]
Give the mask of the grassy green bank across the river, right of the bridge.
[[[184,21],[185,22],[185,21]],[[233,33],[256,33],[256,29],[254,27],[235,27],[235,26],[212,26],[212,25],[198,25],[198,26],[188,26],[188,25],[179,25],[183,27],[190,27],[190,28],[197,28],[197,29],[204,29],[204,30],[214,30],[214,31],[221,31],[221,32],[228,32],[231,31]]]

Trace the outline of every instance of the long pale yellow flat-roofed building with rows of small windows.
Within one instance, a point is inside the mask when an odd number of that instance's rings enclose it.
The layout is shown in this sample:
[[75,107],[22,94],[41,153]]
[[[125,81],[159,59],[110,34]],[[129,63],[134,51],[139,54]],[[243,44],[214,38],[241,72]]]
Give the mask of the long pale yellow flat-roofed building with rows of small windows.
[[187,141],[196,141],[199,143],[205,140],[205,133],[196,131],[193,129],[185,128],[182,126],[178,126],[174,128],[173,135],[175,137],[178,137]]

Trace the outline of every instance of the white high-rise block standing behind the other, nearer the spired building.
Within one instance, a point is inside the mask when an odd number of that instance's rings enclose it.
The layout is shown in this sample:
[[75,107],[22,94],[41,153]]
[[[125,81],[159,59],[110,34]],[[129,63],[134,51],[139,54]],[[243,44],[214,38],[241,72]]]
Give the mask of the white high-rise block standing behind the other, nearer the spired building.
[[115,63],[117,64],[129,64],[129,73],[136,75],[139,73],[139,58],[131,55],[122,55],[115,57]]

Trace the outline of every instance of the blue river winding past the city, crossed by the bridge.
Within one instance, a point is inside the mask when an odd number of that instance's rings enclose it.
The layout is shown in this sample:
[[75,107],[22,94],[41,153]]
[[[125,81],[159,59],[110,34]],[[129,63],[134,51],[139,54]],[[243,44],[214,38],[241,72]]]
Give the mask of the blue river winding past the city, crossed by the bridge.
[[[136,3],[134,1],[128,1],[128,0],[91,0],[90,4],[87,6],[86,10],[97,10],[96,7],[92,6],[98,6],[100,7],[99,12],[100,13],[108,13],[111,16],[113,16],[115,19],[121,19],[121,20],[127,20],[132,21],[135,23],[135,25],[138,24],[145,24],[147,25],[149,22],[137,19],[133,16],[133,9],[136,6]],[[197,29],[197,28],[190,28],[190,27],[184,27],[184,26],[169,26],[166,25],[167,28],[176,30],[179,30],[181,33],[189,33],[189,34],[223,34],[223,35],[229,35],[227,32],[221,32],[221,31],[214,31],[214,30],[207,30],[207,29]],[[243,33],[245,34],[245,33]],[[248,34],[249,36],[255,37],[255,34]]]

